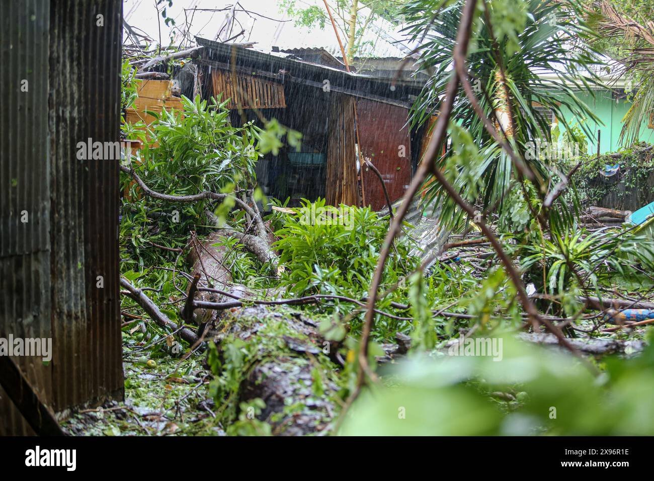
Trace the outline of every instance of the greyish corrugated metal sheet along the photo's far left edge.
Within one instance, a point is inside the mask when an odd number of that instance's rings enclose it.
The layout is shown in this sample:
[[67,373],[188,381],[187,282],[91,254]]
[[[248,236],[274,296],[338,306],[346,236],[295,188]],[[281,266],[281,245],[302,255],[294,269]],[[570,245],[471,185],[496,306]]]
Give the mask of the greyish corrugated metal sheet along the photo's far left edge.
[[[12,0],[5,4],[0,20],[0,337],[49,338],[50,2]],[[51,366],[34,357],[14,361],[39,397],[52,399]],[[0,413],[0,435],[32,433],[2,387]]]

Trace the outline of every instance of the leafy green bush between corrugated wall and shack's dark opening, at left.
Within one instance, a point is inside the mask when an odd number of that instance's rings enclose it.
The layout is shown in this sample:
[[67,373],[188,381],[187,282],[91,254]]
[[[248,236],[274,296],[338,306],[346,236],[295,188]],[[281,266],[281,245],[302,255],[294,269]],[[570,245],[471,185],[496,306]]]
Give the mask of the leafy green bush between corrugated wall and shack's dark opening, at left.
[[[162,111],[147,128],[126,126],[131,137],[140,137],[144,147],[131,166],[145,184],[171,195],[211,192],[236,192],[254,188],[254,165],[258,129],[248,123],[236,128],[230,124],[226,102],[211,104],[198,98],[182,98],[181,112]],[[193,203],[167,202],[143,196],[129,175],[122,174],[122,233],[130,250],[143,264],[143,251],[151,252],[152,242],[165,247],[184,247],[190,231],[206,232],[205,209],[213,211],[215,201]],[[225,219],[233,200],[220,204],[219,217]],[[235,224],[245,224],[235,217]],[[152,260],[152,258],[150,258]]]

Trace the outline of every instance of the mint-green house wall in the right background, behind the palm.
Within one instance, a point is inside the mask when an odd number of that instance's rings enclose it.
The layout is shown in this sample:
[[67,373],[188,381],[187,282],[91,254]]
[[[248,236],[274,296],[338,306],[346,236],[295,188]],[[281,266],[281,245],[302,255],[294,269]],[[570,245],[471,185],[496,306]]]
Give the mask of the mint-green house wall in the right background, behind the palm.
[[[597,130],[600,130],[600,153],[614,152],[622,146],[619,143],[620,131],[622,130],[622,119],[629,110],[630,102],[624,99],[615,100],[611,98],[609,90],[597,90],[595,96],[587,93],[577,93],[591,111],[600,118],[601,123],[587,120],[586,125],[593,132],[593,137],[588,139],[589,153],[597,152]],[[574,124],[579,121],[568,111],[562,109],[563,116],[568,124]],[[602,125],[603,124],[603,125]],[[654,129],[647,128],[646,119],[643,120],[643,126],[640,130],[640,140],[654,143]]]

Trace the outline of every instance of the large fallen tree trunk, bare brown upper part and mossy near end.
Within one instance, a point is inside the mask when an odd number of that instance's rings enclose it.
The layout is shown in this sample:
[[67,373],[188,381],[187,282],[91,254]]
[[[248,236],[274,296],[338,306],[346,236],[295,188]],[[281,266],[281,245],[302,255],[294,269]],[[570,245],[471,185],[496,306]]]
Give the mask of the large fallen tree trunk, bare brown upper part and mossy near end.
[[[198,335],[205,334],[222,359],[211,366],[218,380],[225,379],[218,385],[234,385],[233,376],[238,376],[235,389],[216,395],[217,412],[232,424],[239,419],[241,406],[254,408],[255,399],[261,399],[266,406],[256,419],[268,423],[273,434],[326,432],[335,415],[333,399],[338,390],[332,379],[337,367],[330,360],[332,344],[320,336],[318,323],[301,313],[273,302],[244,306],[247,301],[241,299],[260,296],[233,283],[226,262],[230,251],[222,243],[229,237],[239,238],[260,260],[277,259],[261,237],[251,234],[223,229],[203,241],[192,239],[190,261],[193,275],[199,276],[192,318],[199,325]],[[276,262],[273,265],[277,267]],[[237,371],[228,368],[235,351],[249,353],[247,365]],[[317,391],[323,395],[315,395]],[[289,405],[297,410],[290,412]]]

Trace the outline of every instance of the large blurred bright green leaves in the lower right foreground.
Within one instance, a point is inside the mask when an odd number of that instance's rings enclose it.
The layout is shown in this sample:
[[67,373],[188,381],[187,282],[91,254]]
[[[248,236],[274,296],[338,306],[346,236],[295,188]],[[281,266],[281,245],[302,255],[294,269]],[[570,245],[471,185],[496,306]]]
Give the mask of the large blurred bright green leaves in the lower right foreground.
[[502,362],[489,356],[417,357],[401,382],[358,399],[342,435],[651,435],[645,394],[654,347],[638,359],[610,358],[604,376],[550,349],[508,336]]

